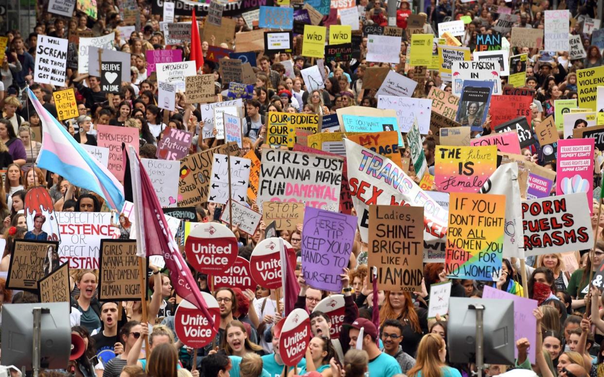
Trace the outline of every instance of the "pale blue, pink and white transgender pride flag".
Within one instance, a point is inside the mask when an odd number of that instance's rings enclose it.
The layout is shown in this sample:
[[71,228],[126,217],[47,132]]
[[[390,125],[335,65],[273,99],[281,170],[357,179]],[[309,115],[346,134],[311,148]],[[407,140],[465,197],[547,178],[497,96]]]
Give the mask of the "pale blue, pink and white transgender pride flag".
[[60,174],[74,186],[96,192],[107,201],[109,207],[121,212],[124,187],[117,178],[69,135],[29,88],[27,95],[42,121],[42,149],[36,165]]

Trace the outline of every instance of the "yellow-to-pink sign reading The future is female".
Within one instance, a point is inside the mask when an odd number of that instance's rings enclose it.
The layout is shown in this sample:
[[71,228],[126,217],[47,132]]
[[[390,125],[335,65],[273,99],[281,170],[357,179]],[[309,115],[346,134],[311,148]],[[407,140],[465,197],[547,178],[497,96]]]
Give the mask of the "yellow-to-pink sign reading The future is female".
[[497,147],[437,145],[434,183],[439,191],[478,192],[495,172]]

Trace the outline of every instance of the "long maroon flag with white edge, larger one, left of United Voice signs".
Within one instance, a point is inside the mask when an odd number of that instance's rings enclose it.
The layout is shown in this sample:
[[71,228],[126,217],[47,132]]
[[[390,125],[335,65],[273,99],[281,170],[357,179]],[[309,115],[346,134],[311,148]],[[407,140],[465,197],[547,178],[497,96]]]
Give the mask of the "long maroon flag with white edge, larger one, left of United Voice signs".
[[[176,294],[192,303],[204,314],[205,318],[214,326],[212,316],[201,296],[198,285],[187,266],[178,244],[170,232],[164,212],[161,209],[155,190],[143,163],[138,158],[134,148],[124,148],[124,161],[126,172],[124,183],[126,192],[132,192],[134,214],[137,230],[137,254],[140,256],[161,255],[164,257],[165,267],[170,270],[170,280]],[[130,179],[128,179],[130,178]]]

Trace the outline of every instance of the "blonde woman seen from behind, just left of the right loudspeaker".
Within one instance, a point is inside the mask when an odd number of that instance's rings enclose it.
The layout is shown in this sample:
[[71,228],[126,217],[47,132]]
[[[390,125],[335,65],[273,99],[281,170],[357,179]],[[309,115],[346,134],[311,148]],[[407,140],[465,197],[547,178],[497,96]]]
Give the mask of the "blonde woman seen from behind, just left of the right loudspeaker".
[[461,377],[457,369],[445,364],[447,347],[438,334],[426,334],[417,347],[416,364],[408,370],[409,377]]

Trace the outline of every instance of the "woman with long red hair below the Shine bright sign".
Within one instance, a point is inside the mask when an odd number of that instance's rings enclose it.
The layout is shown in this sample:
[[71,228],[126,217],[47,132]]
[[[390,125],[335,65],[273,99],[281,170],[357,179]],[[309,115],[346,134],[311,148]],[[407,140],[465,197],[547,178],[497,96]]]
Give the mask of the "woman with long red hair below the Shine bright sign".
[[385,320],[399,320],[403,325],[403,341],[400,346],[409,355],[415,355],[417,344],[428,332],[428,311],[416,308],[409,292],[386,292],[384,305],[379,311],[380,326]]

